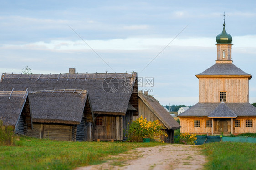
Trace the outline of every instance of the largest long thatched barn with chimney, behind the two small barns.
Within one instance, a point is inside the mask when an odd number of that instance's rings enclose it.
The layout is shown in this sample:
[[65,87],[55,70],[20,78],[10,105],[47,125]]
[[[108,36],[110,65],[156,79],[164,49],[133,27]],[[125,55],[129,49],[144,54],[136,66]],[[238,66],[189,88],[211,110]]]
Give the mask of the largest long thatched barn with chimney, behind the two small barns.
[[[123,140],[133,116],[138,116],[137,73],[2,74],[0,90],[85,89],[95,117],[92,140]],[[13,88],[13,87],[12,87]]]

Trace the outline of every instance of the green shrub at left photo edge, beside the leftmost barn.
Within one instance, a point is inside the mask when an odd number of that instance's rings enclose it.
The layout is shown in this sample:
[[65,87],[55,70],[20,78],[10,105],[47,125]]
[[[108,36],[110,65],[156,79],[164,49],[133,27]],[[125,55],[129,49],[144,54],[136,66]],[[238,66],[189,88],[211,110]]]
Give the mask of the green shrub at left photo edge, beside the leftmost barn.
[[14,137],[14,127],[5,126],[3,121],[0,120],[0,146],[12,145]]

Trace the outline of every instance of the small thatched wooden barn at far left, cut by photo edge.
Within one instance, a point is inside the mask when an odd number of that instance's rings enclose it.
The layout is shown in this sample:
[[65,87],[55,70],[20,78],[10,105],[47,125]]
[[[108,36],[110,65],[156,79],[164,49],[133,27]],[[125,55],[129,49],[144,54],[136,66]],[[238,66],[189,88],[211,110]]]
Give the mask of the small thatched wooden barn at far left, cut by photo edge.
[[0,92],[0,120],[15,127],[16,134],[26,134],[32,129],[28,91]]

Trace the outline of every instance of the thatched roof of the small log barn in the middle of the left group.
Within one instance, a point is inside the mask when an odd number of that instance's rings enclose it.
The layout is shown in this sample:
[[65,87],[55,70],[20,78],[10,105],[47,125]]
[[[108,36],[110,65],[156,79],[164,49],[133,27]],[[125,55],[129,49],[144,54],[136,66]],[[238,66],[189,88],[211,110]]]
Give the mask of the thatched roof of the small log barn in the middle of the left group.
[[42,90],[29,98],[33,122],[80,124],[88,95],[86,90]]

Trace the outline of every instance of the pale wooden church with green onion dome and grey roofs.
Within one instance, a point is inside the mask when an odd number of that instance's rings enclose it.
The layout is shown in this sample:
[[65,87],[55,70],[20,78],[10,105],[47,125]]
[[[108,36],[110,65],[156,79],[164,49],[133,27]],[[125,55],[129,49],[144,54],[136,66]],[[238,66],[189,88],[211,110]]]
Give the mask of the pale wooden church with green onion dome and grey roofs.
[[232,37],[225,29],[216,37],[216,63],[197,74],[199,102],[178,115],[181,133],[256,133],[256,107],[249,103],[249,80],[231,59]]

